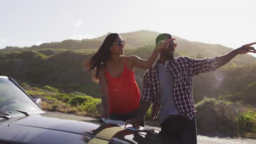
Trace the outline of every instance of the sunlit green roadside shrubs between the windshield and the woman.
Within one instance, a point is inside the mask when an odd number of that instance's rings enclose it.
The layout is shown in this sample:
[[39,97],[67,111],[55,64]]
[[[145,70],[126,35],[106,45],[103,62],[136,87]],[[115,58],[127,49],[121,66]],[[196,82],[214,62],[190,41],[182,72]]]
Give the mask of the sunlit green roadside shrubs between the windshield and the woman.
[[80,92],[62,93],[60,89],[44,86],[42,89],[30,87],[22,83],[21,87],[32,98],[41,98],[41,107],[48,111],[72,113],[79,116],[100,117],[102,113],[101,99],[92,98]]

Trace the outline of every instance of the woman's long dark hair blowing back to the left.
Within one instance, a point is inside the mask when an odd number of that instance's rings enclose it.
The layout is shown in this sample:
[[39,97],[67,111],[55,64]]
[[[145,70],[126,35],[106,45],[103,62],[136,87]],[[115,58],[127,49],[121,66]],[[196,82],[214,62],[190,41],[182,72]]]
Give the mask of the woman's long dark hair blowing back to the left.
[[109,34],[103,41],[100,49],[95,53],[94,56],[92,56],[88,62],[84,63],[84,69],[91,71],[92,69],[96,68],[96,71],[94,74],[92,74],[92,80],[94,82],[98,82],[98,68],[100,68],[101,63],[104,64],[106,61],[109,61],[110,59],[110,46],[114,43],[115,39],[119,34],[117,33],[111,33]]

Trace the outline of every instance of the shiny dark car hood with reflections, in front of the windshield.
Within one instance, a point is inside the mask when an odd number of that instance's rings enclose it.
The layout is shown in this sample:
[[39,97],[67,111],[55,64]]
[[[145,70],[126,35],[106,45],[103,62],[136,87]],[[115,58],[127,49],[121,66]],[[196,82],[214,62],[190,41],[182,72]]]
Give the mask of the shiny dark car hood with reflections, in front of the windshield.
[[138,143],[146,135],[95,119],[53,113],[3,120],[0,129],[0,142],[21,143]]

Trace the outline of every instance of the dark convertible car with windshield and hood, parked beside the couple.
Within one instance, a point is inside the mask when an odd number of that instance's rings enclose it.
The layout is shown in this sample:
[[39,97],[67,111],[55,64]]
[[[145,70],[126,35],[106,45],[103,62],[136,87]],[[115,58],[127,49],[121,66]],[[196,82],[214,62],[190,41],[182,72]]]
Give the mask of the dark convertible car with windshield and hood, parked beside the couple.
[[0,143],[161,143],[158,132],[45,112],[11,77],[0,76]]

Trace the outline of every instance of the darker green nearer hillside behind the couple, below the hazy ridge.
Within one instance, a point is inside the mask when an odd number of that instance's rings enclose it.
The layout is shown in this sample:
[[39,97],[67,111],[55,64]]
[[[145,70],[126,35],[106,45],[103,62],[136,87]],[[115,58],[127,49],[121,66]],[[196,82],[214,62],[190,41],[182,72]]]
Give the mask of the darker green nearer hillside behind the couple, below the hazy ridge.
[[[152,52],[153,47],[127,50],[126,54],[146,58]],[[12,76],[15,80],[27,82],[32,86],[49,85],[65,92],[83,92],[100,98],[98,84],[92,82],[91,73],[83,70],[83,62],[89,59],[94,52],[96,49],[0,52],[0,75]],[[178,56],[177,53],[176,56]],[[196,76],[193,91],[195,101],[198,102],[203,97],[217,98],[226,91],[242,91],[251,83],[256,82],[256,64],[236,65],[238,64],[226,65],[213,73]],[[141,69],[135,71],[140,89],[142,89],[145,71]],[[229,83],[234,85],[229,85]]]

